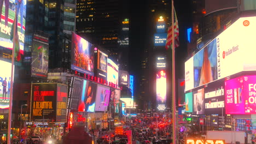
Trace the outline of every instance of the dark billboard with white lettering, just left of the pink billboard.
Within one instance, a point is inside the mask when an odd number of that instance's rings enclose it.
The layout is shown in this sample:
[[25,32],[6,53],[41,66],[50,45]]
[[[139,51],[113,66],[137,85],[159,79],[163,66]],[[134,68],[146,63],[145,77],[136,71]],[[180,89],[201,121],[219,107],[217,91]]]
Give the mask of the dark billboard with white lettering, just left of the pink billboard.
[[205,114],[225,114],[224,80],[218,80],[205,87]]

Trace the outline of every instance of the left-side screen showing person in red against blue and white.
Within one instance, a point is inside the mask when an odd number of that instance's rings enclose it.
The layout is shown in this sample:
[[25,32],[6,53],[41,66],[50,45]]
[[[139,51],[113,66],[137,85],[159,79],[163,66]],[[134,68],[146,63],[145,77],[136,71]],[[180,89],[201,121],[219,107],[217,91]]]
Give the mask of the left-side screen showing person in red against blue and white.
[[86,85],[88,86],[84,96],[85,111],[94,112],[97,84],[93,82],[88,82]]

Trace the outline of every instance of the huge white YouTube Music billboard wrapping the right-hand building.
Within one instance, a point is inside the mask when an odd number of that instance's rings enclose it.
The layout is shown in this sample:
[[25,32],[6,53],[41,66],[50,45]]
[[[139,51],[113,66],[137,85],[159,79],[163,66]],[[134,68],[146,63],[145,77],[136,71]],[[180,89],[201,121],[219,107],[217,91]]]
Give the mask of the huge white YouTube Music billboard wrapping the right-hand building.
[[256,17],[241,17],[185,62],[185,91],[241,71],[256,70],[256,49],[251,49],[255,27]]

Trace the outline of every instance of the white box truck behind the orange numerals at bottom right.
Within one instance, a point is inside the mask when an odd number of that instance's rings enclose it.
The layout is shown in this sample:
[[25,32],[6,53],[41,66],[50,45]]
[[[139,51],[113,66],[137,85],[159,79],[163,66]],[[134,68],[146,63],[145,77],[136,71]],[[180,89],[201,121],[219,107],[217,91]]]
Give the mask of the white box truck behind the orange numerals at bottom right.
[[245,131],[206,131],[206,140],[225,140],[226,144],[245,144]]

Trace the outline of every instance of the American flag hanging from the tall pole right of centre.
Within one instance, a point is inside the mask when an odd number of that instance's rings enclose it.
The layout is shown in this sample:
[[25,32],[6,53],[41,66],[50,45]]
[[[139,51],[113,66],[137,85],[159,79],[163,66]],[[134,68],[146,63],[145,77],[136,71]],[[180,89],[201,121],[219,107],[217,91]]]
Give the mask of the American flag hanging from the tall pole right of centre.
[[[178,20],[176,16],[176,12],[174,10],[174,48],[179,46],[179,26],[178,26]],[[171,47],[172,45],[172,23],[170,27],[168,28],[167,32],[167,39],[166,39],[166,45],[165,48],[166,50]],[[172,48],[172,47],[171,47]]]

